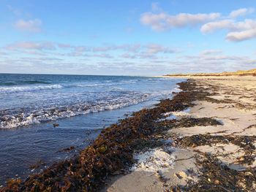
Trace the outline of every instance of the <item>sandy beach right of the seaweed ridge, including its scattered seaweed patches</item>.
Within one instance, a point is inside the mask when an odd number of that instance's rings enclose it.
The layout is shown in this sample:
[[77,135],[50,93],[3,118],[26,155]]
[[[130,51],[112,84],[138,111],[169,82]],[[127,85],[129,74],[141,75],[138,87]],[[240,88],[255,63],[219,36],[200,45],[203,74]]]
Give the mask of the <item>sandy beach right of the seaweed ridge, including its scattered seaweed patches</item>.
[[255,191],[256,77],[193,77],[184,91],[196,95],[193,107],[169,115],[187,125],[165,120],[167,130],[156,136],[164,145],[154,150],[169,161],[144,153],[143,163],[104,191]]

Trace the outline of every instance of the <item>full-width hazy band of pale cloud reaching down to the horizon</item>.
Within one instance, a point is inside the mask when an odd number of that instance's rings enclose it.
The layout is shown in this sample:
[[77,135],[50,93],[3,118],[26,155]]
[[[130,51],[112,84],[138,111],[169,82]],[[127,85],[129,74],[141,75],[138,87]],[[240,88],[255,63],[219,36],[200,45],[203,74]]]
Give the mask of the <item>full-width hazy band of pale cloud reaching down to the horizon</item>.
[[[113,74],[126,74],[128,72],[130,72],[130,74],[135,74],[135,72],[141,74],[145,70],[145,74],[148,74],[149,72],[157,75],[166,74],[168,71],[190,72],[189,70],[192,72],[222,72],[227,69],[249,69],[255,67],[256,65],[255,55],[250,53],[248,53],[249,56],[225,55],[225,53],[222,53],[221,50],[203,50],[196,55],[171,55],[169,53],[173,53],[173,51],[176,53],[176,48],[166,47],[159,44],[113,45],[114,48],[122,51],[121,53],[115,52],[113,54],[111,53],[111,50],[110,54],[107,52],[93,53],[93,47],[88,47],[88,55],[86,55],[83,51],[74,52],[75,47],[77,46],[70,45],[70,48],[65,49],[65,53],[63,53],[65,56],[63,57],[62,55],[59,55],[59,51],[50,51],[54,47],[59,47],[59,45],[59,42],[14,43],[10,45],[9,48],[11,50],[17,50],[18,55],[14,56],[13,54],[10,54],[2,56],[2,62],[4,62],[4,64],[0,64],[2,66],[1,69],[8,70],[7,66],[11,65],[13,69],[20,72],[20,69],[23,69],[23,66],[27,65],[31,67],[38,67],[38,71],[34,72],[70,73],[70,68],[73,68],[71,70],[73,73],[88,73],[88,66],[85,62],[89,61],[92,70],[91,74],[97,73],[96,70],[99,69],[100,72],[103,71],[105,73],[109,73],[110,71],[108,70],[113,70]],[[3,48],[4,51],[8,51],[7,47]],[[135,52],[133,51],[133,48],[135,48]],[[43,52],[42,50],[47,51]],[[66,53],[67,50],[73,52]],[[24,53],[26,52],[29,55],[20,56],[19,53],[21,51]],[[12,51],[10,53],[12,53]],[[58,53],[58,55],[55,53]],[[72,56],[75,56],[75,58],[72,58]],[[60,60],[60,58],[63,60]],[[127,60],[127,58],[129,59]],[[11,60],[7,61],[7,59]],[[97,64],[99,61],[104,62]],[[70,63],[72,66],[69,66],[68,63]],[[29,69],[31,69],[31,67]],[[59,71],[60,69],[61,71]],[[134,71],[134,69],[136,71]]]

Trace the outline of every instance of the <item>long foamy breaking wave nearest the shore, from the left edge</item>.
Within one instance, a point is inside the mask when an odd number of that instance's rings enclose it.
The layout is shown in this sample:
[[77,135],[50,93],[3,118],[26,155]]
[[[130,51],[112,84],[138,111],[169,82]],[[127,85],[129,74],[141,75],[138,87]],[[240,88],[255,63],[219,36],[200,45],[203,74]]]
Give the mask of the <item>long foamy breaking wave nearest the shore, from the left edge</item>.
[[32,112],[16,112],[15,114],[7,115],[7,110],[0,111],[0,128],[16,128],[19,126],[29,126],[34,123],[43,123],[50,120],[60,118],[69,118],[77,115],[86,115],[91,112],[100,112],[104,110],[116,110],[122,107],[127,107],[132,104],[138,104],[150,99],[149,94],[140,96],[133,95],[130,97],[120,97],[111,101],[98,101],[94,104],[75,104],[72,106],[52,107],[45,110]]

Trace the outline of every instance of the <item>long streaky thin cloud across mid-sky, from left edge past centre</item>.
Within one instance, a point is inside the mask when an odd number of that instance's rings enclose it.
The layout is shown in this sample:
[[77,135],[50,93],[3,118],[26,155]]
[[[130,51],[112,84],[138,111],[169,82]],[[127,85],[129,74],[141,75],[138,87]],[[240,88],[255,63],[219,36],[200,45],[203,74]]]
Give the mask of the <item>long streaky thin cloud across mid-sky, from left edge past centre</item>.
[[[57,53],[56,48],[64,49],[68,53]],[[157,59],[166,58],[167,53],[178,53],[177,47],[166,47],[160,44],[121,44],[121,45],[102,45],[99,47],[86,47],[63,44],[59,42],[15,42],[3,47],[4,50],[23,52],[29,55],[70,56],[70,57],[97,57],[97,58],[115,58],[116,51],[120,53],[120,58],[138,58],[138,59]],[[0,47],[1,50],[1,47]],[[48,50],[44,52],[44,50]],[[50,51],[52,50],[52,51]],[[113,53],[115,50],[115,53]],[[88,54],[85,54],[88,53]],[[98,53],[98,54],[97,54]],[[103,54],[105,53],[105,54]],[[110,54],[108,54],[110,53]],[[161,55],[165,54],[165,55]]]

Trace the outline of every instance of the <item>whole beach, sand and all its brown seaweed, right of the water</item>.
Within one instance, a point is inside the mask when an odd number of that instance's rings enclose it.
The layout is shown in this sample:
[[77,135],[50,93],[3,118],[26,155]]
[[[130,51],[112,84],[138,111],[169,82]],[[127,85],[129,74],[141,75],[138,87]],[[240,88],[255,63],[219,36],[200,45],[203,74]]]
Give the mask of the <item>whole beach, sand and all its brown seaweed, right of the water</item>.
[[76,158],[7,189],[254,191],[256,78],[206,77],[103,129]]

